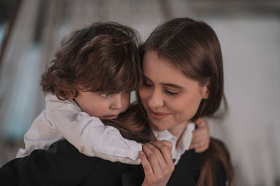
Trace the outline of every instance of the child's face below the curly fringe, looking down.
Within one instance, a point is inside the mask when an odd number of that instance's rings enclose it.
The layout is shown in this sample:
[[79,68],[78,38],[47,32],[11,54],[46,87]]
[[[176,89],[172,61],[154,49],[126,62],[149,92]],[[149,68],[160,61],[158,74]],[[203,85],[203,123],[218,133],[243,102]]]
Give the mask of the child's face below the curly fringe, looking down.
[[130,104],[130,93],[115,93],[111,95],[78,91],[74,98],[80,108],[90,116],[102,119],[118,118]]

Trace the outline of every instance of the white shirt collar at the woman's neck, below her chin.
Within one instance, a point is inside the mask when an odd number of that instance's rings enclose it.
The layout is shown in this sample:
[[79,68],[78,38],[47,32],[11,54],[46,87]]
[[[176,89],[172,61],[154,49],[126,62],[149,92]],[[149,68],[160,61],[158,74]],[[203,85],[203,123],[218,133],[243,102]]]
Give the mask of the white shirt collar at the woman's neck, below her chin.
[[[183,153],[190,147],[190,142],[192,141],[193,137],[193,130],[195,130],[195,123],[189,123],[179,141],[177,137],[174,137],[174,135],[172,135],[168,130],[153,130],[153,134],[155,134],[155,138],[157,140],[167,140],[172,142],[172,157],[175,160],[174,164],[177,164],[181,155],[183,155]],[[177,141],[178,144],[176,147]]]

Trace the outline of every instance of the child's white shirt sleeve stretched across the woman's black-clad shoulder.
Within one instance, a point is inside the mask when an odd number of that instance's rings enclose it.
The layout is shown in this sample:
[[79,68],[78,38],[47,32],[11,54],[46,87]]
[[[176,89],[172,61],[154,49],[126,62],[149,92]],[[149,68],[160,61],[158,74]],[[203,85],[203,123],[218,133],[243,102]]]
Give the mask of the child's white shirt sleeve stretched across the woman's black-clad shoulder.
[[104,125],[72,101],[61,101],[54,95],[47,95],[46,100],[46,118],[80,153],[112,162],[140,163],[141,144],[123,138],[116,127]]

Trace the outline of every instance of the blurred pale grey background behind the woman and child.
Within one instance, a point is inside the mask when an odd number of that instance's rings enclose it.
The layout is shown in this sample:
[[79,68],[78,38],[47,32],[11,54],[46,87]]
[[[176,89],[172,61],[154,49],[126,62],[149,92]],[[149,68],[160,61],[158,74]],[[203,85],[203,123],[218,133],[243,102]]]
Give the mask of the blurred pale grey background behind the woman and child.
[[40,75],[67,33],[114,21],[145,40],[186,16],[210,24],[221,42],[230,111],[208,121],[230,150],[235,185],[280,185],[280,1],[272,0],[0,0],[0,166],[44,108]]

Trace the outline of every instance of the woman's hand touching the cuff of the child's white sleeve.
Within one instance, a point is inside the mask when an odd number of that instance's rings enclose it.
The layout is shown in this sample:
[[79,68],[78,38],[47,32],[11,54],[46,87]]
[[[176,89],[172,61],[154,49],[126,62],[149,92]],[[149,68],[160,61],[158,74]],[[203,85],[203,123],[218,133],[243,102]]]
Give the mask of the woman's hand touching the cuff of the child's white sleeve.
[[172,160],[172,143],[169,141],[155,141],[144,144],[139,153],[141,164],[145,172],[142,186],[167,185],[174,171]]

